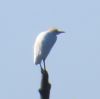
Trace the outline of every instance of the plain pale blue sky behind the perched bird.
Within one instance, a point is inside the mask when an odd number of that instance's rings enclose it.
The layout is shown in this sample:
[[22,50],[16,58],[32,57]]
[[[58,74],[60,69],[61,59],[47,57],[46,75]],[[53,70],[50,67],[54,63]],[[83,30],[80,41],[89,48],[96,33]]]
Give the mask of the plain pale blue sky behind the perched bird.
[[1,0],[0,99],[40,99],[32,46],[50,27],[66,31],[46,60],[50,99],[100,99],[99,0]]

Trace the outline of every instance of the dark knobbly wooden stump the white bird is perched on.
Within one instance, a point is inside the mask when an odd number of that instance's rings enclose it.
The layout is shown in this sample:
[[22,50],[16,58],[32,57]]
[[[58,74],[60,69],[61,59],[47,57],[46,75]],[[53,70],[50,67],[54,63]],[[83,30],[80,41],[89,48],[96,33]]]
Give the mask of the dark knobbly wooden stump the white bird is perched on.
[[41,99],[49,99],[51,84],[49,83],[49,75],[46,69],[41,68],[41,88],[39,89]]

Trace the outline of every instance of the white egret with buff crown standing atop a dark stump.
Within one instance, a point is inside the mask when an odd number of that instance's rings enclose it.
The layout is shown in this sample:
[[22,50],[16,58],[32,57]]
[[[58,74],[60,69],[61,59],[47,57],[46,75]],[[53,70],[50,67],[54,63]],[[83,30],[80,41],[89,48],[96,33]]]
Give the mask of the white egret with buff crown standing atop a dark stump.
[[45,60],[57,40],[57,35],[64,33],[64,31],[52,28],[47,31],[41,32],[34,44],[34,63],[40,64],[43,61],[45,69]]

